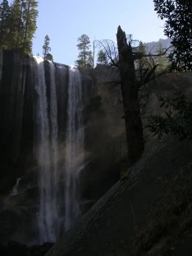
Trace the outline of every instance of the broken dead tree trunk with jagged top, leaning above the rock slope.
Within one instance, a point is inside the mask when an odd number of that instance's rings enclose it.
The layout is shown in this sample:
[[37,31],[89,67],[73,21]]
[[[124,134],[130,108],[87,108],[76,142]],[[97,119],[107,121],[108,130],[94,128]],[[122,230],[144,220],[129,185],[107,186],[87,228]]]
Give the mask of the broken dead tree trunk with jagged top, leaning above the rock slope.
[[130,165],[137,162],[144,151],[143,127],[140,117],[138,88],[135,82],[135,65],[132,48],[126,41],[126,34],[117,30],[121,94],[126,121],[126,139]]

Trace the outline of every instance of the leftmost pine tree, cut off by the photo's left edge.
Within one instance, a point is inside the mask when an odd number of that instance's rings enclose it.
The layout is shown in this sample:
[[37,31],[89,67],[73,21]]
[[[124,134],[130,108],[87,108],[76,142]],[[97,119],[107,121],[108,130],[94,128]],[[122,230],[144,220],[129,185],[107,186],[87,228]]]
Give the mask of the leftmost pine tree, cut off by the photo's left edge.
[[11,16],[11,7],[7,0],[0,4],[0,45],[7,48],[7,35],[9,33],[9,19]]

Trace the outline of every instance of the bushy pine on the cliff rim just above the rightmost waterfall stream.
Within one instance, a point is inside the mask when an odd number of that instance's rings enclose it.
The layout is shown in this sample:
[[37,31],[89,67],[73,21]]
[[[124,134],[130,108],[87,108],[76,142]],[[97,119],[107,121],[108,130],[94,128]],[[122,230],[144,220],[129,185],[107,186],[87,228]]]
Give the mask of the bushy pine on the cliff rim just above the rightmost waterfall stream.
[[87,34],[82,34],[78,41],[80,43],[77,44],[77,48],[80,50],[80,53],[78,55],[78,60],[75,63],[81,67],[93,67],[94,58],[92,52],[90,51],[89,36]]

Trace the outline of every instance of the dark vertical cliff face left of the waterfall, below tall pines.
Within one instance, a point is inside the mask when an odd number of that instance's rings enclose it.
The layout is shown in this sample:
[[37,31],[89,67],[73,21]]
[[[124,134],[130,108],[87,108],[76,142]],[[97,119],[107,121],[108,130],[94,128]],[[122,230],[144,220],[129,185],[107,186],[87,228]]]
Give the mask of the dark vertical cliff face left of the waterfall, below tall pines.
[[[1,115],[1,191],[14,184],[21,176],[27,159],[21,154],[29,150],[33,136],[32,94],[30,83],[30,57],[20,53],[3,53],[0,91]],[[11,180],[7,182],[7,177]],[[4,188],[4,186],[7,188]],[[2,192],[4,192],[2,191]]]

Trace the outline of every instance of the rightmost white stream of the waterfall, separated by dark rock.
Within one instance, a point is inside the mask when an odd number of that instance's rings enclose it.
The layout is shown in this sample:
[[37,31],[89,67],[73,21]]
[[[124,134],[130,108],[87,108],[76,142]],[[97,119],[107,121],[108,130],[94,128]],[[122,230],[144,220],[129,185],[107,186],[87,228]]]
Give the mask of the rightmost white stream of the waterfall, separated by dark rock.
[[68,121],[66,126],[65,230],[80,217],[79,175],[84,164],[84,126],[80,71],[69,69]]

